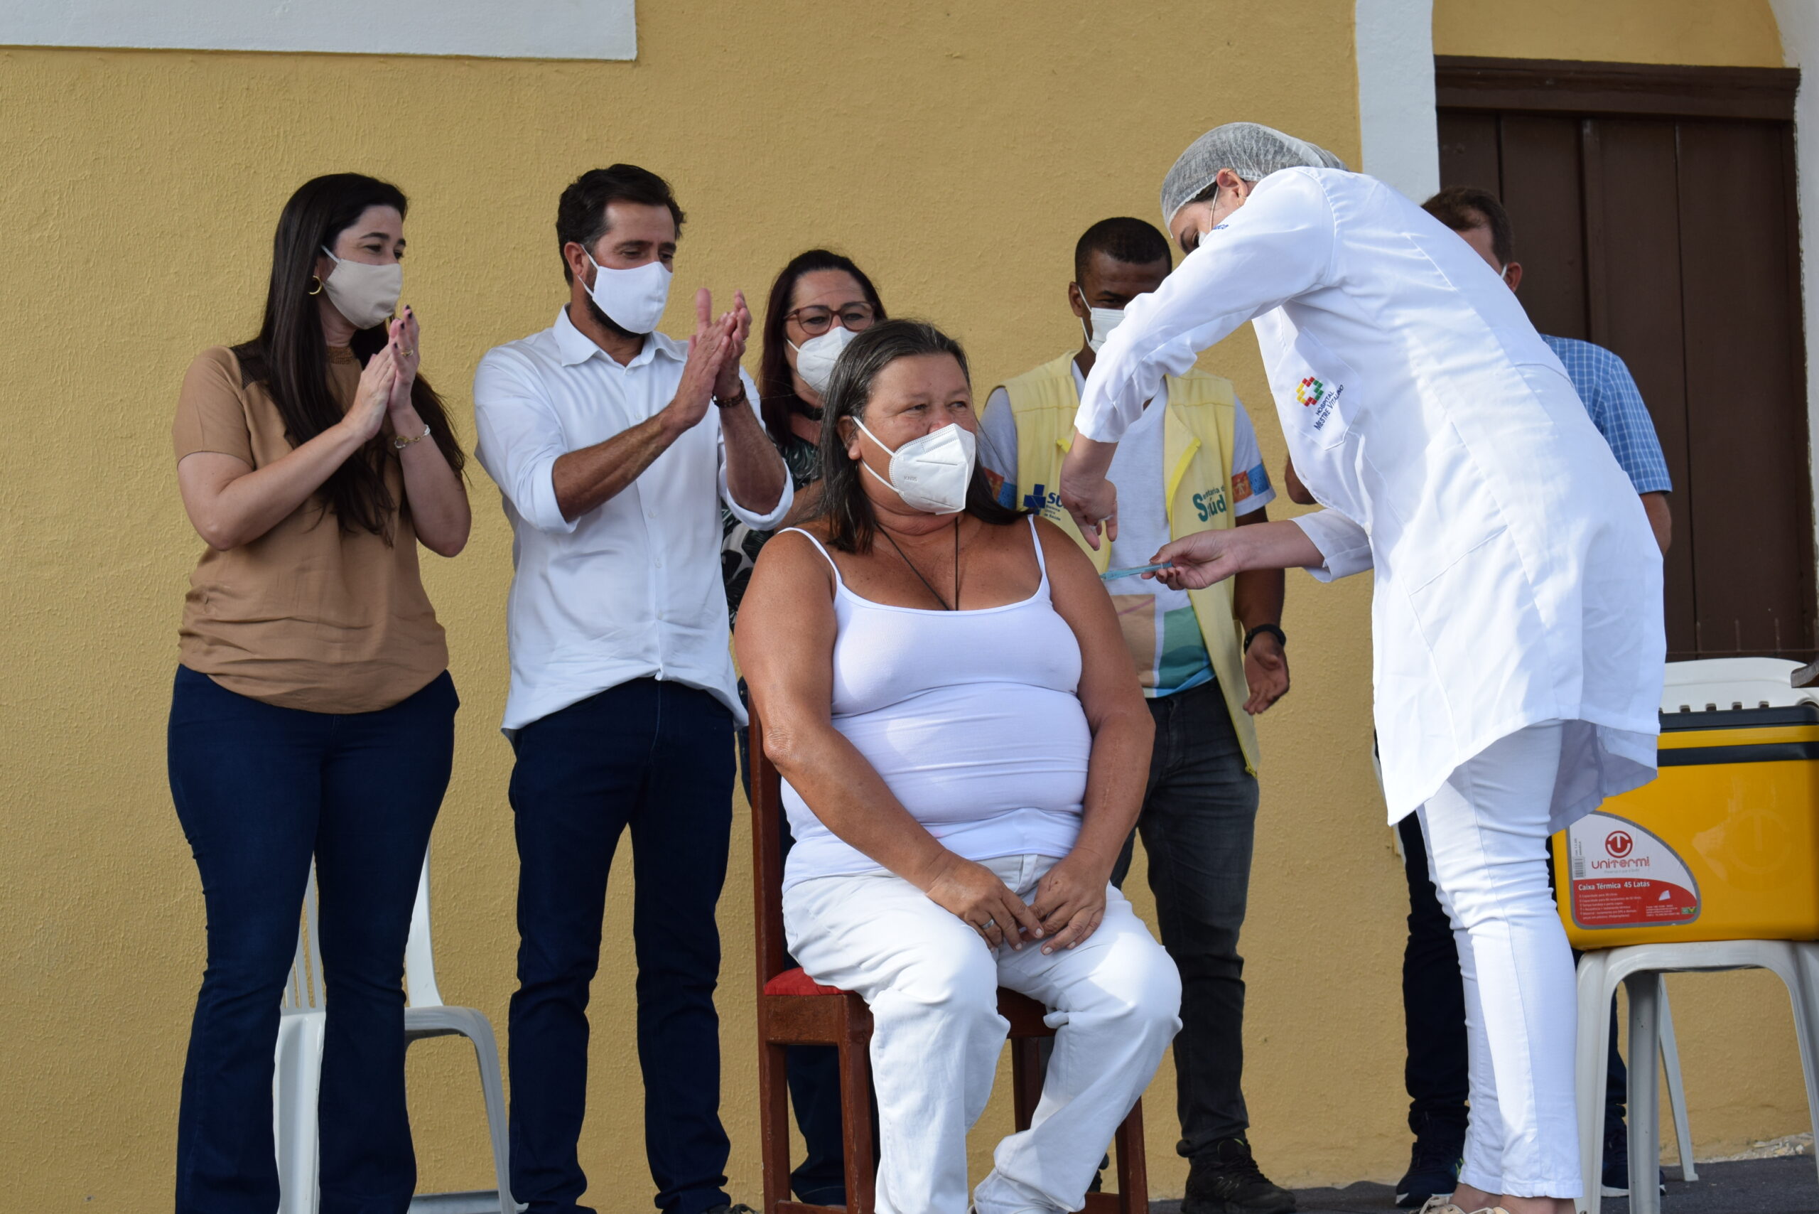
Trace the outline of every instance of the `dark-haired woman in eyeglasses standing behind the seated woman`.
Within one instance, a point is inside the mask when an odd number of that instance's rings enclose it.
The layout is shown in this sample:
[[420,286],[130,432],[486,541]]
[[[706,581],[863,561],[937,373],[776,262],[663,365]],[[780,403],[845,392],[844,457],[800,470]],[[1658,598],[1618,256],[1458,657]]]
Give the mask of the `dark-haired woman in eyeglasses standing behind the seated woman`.
[[[820,400],[833,364],[855,335],[879,320],[884,320],[879,291],[849,257],[828,249],[797,253],[771,284],[759,351],[759,408],[764,430],[782,451],[795,484],[797,504],[784,526],[815,513],[820,501]],[[753,531],[729,510],[720,511],[720,521],[726,610],[737,621],[751,566],[771,531]],[[746,697],[744,679],[739,681],[739,697]],[[739,730],[739,772],[749,799],[749,733],[744,728]],[[780,828],[788,855],[793,843],[789,825]],[[833,1048],[789,1047],[789,1096],[808,1145],[808,1159],[791,1174],[797,1198],[811,1205],[846,1205],[840,1074]]]

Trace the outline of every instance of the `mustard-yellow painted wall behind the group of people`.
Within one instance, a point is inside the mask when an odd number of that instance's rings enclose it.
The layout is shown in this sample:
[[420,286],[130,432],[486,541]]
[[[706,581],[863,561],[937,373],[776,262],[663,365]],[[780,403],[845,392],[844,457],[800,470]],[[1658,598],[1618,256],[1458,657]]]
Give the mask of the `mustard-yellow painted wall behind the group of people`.
[[[169,415],[189,359],[253,331],[271,226],[298,182],[360,169],[411,195],[406,298],[424,317],[426,375],[471,439],[480,353],[549,324],[564,297],[555,198],[589,166],[635,160],[675,182],[689,211],[677,300],[702,284],[762,300],[789,255],[831,244],[893,311],[959,335],[984,388],[1077,344],[1062,298],[1075,237],[1106,215],[1153,220],[1162,171],[1208,126],[1257,118],[1357,158],[1344,0],[1171,0],[1115,16],[1088,0],[644,0],[638,46],[635,64],[0,49],[0,1158],[16,1207],[169,1201],[202,966],[162,755],[198,551]],[[682,319],[678,306],[671,329]],[[1251,337],[1206,366],[1253,402],[1279,468]],[[478,468],[473,495],[467,551],[426,555],[464,697],[435,841],[437,945],[444,996],[504,1030],[509,535]],[[1295,692],[1262,726],[1244,946],[1251,1138],[1282,1181],[1390,1179],[1406,1159],[1406,901],[1368,757],[1370,586],[1290,586]],[[735,1199],[759,1192],[748,854],[740,817],[720,916]],[[617,874],[582,1143],[593,1199],[617,1209],[649,1194],[628,888]],[[1783,1041],[1786,1012],[1759,1023],[1737,1012],[1761,1003],[1757,986],[1704,981],[1724,996],[1683,1021],[1690,1087],[1712,1108],[1695,1103],[1703,1141],[1799,1128],[1792,1054],[1774,1070],[1748,1047]],[[1726,1025],[1746,1032],[1717,1043]],[[462,1050],[413,1050],[426,1190],[489,1178]],[[1148,1103],[1157,1196],[1184,1178],[1171,1108],[1164,1067]],[[986,1125],[1008,1125],[1002,1101]],[[982,1159],[986,1134],[977,1145]]]

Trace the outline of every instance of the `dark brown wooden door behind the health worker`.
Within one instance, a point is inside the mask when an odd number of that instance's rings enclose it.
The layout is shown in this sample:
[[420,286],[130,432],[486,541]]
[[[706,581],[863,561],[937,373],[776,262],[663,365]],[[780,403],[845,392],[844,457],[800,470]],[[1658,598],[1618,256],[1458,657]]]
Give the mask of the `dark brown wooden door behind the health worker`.
[[1668,659],[1815,650],[1779,69],[1437,62],[1441,182],[1497,193],[1535,328],[1617,351],[1673,477]]

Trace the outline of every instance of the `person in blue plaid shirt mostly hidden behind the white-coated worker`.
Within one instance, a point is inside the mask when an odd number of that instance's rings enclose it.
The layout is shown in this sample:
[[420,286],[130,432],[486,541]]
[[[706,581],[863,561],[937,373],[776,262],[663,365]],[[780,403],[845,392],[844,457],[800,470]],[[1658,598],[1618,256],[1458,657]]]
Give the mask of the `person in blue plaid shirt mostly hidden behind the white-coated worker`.
[[[1479,257],[1490,262],[1513,291],[1523,282],[1515,260],[1510,215],[1497,195],[1468,186],[1453,186],[1428,198],[1422,207],[1457,231]],[[1661,551],[1668,550],[1670,519],[1668,462],[1661,455],[1655,422],[1635,389],[1623,359],[1572,337],[1541,335],[1573,380],[1592,422],[1610,442],[1617,464],[1643,499],[1648,522]],[[1295,470],[1290,468],[1288,491],[1297,495]],[[1459,1179],[1459,1158],[1466,1134],[1466,1007],[1459,979],[1459,954],[1453,930],[1428,879],[1428,855],[1421,826],[1410,815],[1397,826],[1408,872],[1408,948],[1402,954],[1402,1010],[1408,1021],[1408,1065],[1404,1081],[1410,1108],[1408,1128],[1415,1132],[1408,1174],[1395,1187],[1395,1203],[1421,1207],[1435,1194],[1450,1194]],[[1615,1016],[1615,1007],[1612,1008]],[[1628,1130],[1623,1121],[1626,1074],[1617,1052],[1617,1034],[1610,1036],[1610,1087],[1604,1103],[1603,1190],[1606,1198],[1626,1196]]]

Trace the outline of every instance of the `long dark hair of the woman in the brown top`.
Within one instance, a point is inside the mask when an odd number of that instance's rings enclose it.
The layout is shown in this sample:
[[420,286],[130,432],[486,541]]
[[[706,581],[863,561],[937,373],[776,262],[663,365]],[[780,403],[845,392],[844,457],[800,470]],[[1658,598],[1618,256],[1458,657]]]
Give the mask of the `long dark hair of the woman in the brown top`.
[[[335,238],[353,228],[371,206],[397,207],[404,215],[409,202],[397,186],[360,173],[317,177],[291,195],[271,238],[266,320],[258,337],[235,346],[240,379],[266,384],[293,448],[309,442],[346,413],[346,406],[329,391],[329,349],[311,291],[320,289],[315,275],[322,248],[333,249]],[[386,348],[386,326],[380,322],[371,329],[358,329],[349,348],[360,366],[366,366],[367,359]],[[460,473],[466,457],[455,442],[447,410],[422,375],[411,386],[411,406],[429,424],[449,468]],[[386,488],[382,442],[384,439],[375,437],[364,451],[349,457],[322,482],[318,495],[324,510],[335,511],[344,531],[358,528],[391,542],[391,515],[398,502],[391,501],[391,490]]]

